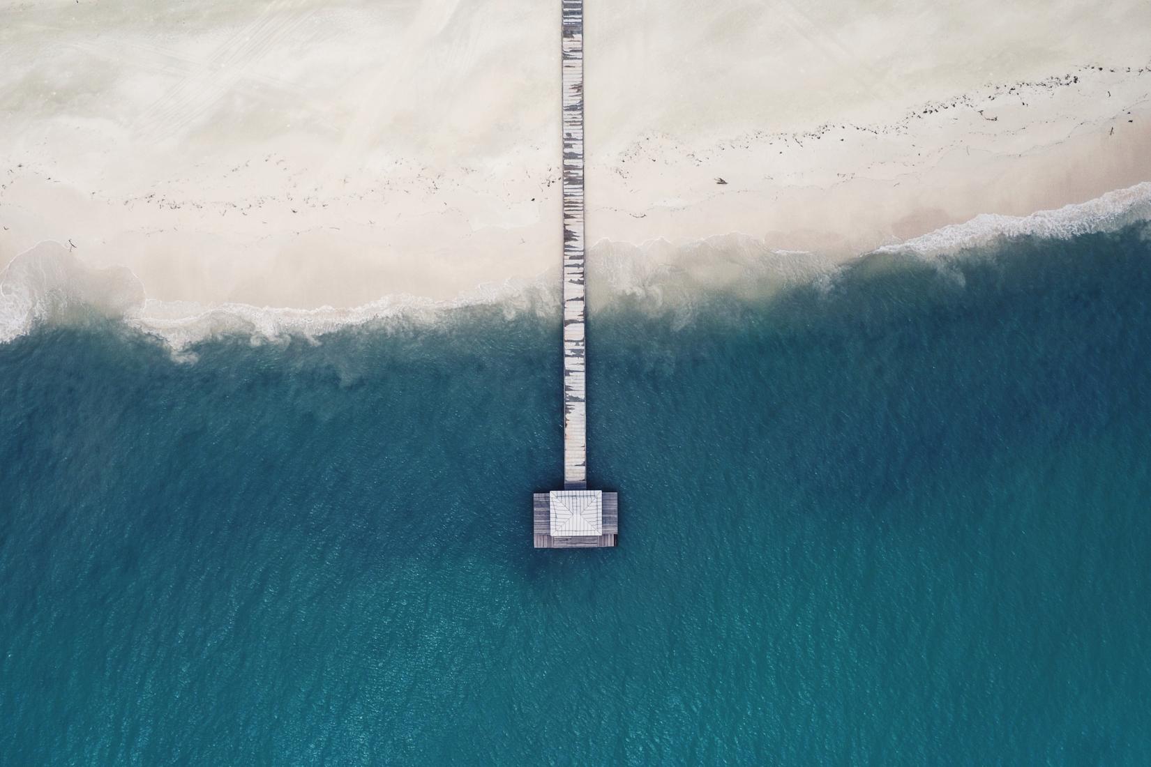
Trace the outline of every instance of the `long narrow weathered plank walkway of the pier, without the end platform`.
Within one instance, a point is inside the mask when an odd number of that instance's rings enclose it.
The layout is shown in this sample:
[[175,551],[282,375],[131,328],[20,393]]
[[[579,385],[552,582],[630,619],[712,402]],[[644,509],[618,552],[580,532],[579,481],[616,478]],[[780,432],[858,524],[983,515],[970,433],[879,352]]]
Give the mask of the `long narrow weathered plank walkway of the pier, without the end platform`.
[[563,0],[564,488],[587,488],[584,0]]

